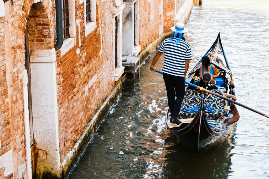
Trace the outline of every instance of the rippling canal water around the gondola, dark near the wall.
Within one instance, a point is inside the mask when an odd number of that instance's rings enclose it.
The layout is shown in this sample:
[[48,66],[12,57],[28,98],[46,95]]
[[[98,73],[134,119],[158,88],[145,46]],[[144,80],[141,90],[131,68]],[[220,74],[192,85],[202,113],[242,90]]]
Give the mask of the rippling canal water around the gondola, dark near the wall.
[[[194,6],[186,41],[190,68],[210,48],[221,24],[238,102],[269,113],[269,2],[204,0]],[[222,21],[221,21],[222,19]],[[156,52],[155,52],[156,53]],[[269,119],[238,107],[240,120],[214,152],[189,154],[165,126],[167,97],[160,74],[149,71],[123,82],[109,111],[69,178],[269,178]],[[163,56],[157,63],[161,69]]]

